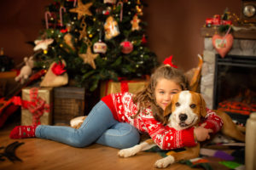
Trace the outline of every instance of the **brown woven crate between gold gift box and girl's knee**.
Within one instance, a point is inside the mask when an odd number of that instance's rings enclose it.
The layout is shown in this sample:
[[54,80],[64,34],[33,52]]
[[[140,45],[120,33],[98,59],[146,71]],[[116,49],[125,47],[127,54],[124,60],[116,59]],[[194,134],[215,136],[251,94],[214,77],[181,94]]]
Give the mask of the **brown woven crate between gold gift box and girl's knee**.
[[85,88],[54,88],[54,123],[69,124],[76,116],[84,116]]

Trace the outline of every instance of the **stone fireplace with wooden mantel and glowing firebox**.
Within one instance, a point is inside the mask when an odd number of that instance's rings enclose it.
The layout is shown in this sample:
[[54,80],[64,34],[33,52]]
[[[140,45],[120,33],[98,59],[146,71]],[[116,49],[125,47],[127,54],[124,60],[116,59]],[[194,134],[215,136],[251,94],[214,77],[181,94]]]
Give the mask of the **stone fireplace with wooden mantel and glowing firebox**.
[[201,28],[204,63],[200,93],[209,109],[224,110],[234,120],[245,123],[248,114],[256,112],[256,28],[233,28],[234,42],[224,58],[212,46],[212,36],[218,27]]

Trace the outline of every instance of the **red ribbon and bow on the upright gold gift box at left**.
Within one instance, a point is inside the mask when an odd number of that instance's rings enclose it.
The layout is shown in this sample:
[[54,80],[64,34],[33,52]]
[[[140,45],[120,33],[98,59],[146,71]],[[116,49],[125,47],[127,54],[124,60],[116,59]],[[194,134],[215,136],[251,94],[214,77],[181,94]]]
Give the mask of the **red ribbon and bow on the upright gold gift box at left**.
[[38,88],[31,88],[29,91],[30,101],[22,100],[19,96],[13,98],[15,105],[21,105],[32,113],[32,125],[39,125],[40,117],[43,116],[44,111],[49,112],[49,105],[45,100],[38,97]]

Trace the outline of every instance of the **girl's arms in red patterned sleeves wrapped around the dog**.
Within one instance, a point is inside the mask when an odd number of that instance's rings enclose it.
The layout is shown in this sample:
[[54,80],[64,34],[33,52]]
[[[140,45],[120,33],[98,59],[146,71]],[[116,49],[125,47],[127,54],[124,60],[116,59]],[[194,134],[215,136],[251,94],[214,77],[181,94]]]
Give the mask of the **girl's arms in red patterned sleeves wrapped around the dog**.
[[[209,139],[209,133],[217,133],[223,126],[221,118],[211,110],[207,109],[207,116],[201,127],[189,127],[177,131],[172,127],[165,127],[153,117],[145,119],[144,124],[148,134],[162,150],[173,150],[176,148],[195,146],[198,141]],[[210,129],[210,130],[209,130]]]

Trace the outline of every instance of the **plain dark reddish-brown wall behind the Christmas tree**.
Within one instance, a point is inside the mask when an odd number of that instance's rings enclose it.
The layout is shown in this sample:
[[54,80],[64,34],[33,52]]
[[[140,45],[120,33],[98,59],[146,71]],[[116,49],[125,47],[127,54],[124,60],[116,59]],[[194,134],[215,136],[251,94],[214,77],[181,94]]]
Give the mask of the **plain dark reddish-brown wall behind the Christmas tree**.
[[[142,1],[142,0],[141,0]],[[26,42],[34,41],[43,28],[44,8],[54,0],[0,2],[0,48],[19,64],[33,53]],[[207,17],[229,8],[240,14],[241,0],[145,0],[143,18],[148,22],[148,46],[160,61],[174,55],[174,62],[188,70],[203,52],[201,27]]]

